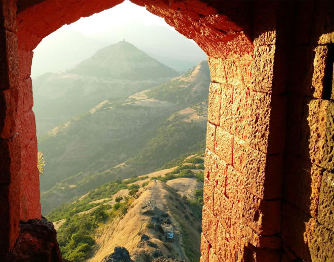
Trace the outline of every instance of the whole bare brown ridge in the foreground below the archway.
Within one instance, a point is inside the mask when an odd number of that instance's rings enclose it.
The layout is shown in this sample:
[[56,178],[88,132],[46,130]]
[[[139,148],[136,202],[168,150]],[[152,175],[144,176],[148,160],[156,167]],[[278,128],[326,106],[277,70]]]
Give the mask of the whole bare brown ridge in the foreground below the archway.
[[[195,188],[190,185],[194,183],[198,182],[195,179],[183,182],[189,188]],[[101,262],[116,246],[127,248],[136,262],[145,262],[148,257],[161,255],[189,260],[186,255],[189,250],[187,252],[183,247],[184,241],[189,239],[195,250],[194,255],[199,258],[201,221],[177,191],[166,183],[151,181],[126,215],[98,229],[95,238],[97,245],[88,261]],[[169,239],[171,235],[173,238]]]

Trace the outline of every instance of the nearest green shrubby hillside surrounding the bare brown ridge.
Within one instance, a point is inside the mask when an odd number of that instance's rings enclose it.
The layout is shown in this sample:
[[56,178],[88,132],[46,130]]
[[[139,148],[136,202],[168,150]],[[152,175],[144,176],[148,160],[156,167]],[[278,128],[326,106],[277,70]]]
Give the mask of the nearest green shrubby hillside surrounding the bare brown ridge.
[[[173,228],[180,228],[181,230],[181,232],[177,234],[179,234],[178,237],[181,238],[183,242],[182,250],[181,247],[179,247],[178,252],[174,251],[179,245],[179,238],[176,238],[176,240],[173,241],[174,243],[164,244],[167,248],[162,250],[164,255],[177,258],[182,255],[179,252],[184,252],[190,261],[198,261],[200,256],[200,252],[198,252],[199,241],[192,240],[190,236],[194,236],[195,239],[198,240],[200,239],[201,206],[203,204],[203,171],[201,170],[203,154],[188,158],[187,160],[184,160],[184,158],[185,157],[183,157],[178,166],[174,167],[172,171],[166,170],[162,175],[152,176],[152,174],[147,174],[127,180],[110,181],[91,190],[88,194],[76,198],[75,201],[63,203],[61,207],[53,209],[48,215],[48,219],[54,222],[57,228],[57,239],[63,257],[77,262],[85,261],[89,257],[94,257],[94,255],[100,251],[99,243],[97,243],[99,242],[97,235],[101,234],[105,229],[117,228],[117,225],[124,223],[128,224],[129,217],[131,217],[132,220],[138,220],[137,217],[140,216],[140,212],[136,211],[135,206],[145,204],[145,197],[142,199],[140,195],[149,193],[145,191],[153,190],[160,194],[154,195],[155,199],[164,199],[162,201],[168,203],[168,208],[162,212],[163,215],[170,216],[172,224],[173,222],[175,223]],[[194,163],[196,163],[196,165]],[[187,179],[184,180],[183,183],[188,183],[192,188],[198,189],[188,192],[187,196],[184,195],[181,198],[179,192],[180,188],[177,187],[178,184],[172,183],[168,186],[165,183],[182,178]],[[160,187],[162,186],[165,190],[168,190],[170,194],[168,198],[162,196],[161,190],[154,190],[152,184],[150,184],[151,187],[148,186],[153,180],[163,183]],[[184,186],[185,185],[183,185],[183,188]],[[137,196],[131,197],[129,195],[131,189],[138,191]],[[137,198],[139,199],[136,201]],[[176,208],[176,203],[180,205],[181,210]],[[132,212],[132,215],[129,217],[126,216],[128,212]],[[157,210],[156,213],[159,214],[159,211]],[[155,225],[158,224],[156,222],[147,223],[149,219],[150,217],[147,217],[146,223],[142,222],[142,234],[146,228],[146,231],[150,231],[151,236],[155,234],[158,236],[161,232],[156,232],[156,230],[151,231],[151,228],[154,229]],[[189,223],[190,221],[191,224]],[[105,227],[105,225],[107,225],[107,227]],[[195,227],[198,227],[198,230]],[[117,233],[122,234],[121,232],[114,231],[114,234]],[[112,238],[112,236],[109,236],[109,239],[110,238]],[[131,235],[127,233],[122,234],[122,238],[132,242],[130,241],[132,238]],[[103,248],[106,248],[108,244],[110,243],[104,241]],[[137,245],[140,247],[139,243]],[[155,248],[159,247],[155,245]],[[151,255],[149,249],[146,253]],[[132,256],[137,256],[136,261],[142,261],[140,254],[141,252],[137,251],[136,247],[132,250]]]

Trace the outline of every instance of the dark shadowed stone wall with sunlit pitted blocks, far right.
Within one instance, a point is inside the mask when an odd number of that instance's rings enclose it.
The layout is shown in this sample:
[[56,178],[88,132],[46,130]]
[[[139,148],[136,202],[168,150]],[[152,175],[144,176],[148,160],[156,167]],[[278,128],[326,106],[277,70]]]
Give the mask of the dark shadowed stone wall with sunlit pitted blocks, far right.
[[334,258],[334,5],[300,3],[291,43],[282,261]]

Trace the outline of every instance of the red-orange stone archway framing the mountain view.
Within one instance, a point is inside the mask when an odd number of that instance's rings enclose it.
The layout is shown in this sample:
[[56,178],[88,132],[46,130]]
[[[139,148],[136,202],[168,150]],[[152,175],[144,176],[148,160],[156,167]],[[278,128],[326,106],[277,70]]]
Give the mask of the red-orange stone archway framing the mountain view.
[[[1,57],[4,81],[0,87],[3,255],[15,244],[20,219],[40,218],[30,78],[32,50],[62,25],[121,2],[0,3],[4,29],[0,35],[5,47]],[[323,215],[334,205],[330,186],[324,188],[321,184],[324,169],[326,181],[332,178],[333,170],[332,138],[328,136],[333,130],[332,96],[324,85],[329,70],[326,65],[332,57],[328,50],[334,41],[331,4],[320,3],[313,11],[313,2],[306,6],[202,0],[132,2],[163,17],[180,33],[193,38],[208,55],[212,82],[201,260],[321,258],[323,253],[317,254],[316,247],[325,250],[325,243],[314,240],[314,236],[322,236],[325,229],[333,234],[333,225],[318,218],[321,190]],[[306,25],[305,13],[315,17]],[[308,49],[301,48],[305,46]],[[306,65],[313,64],[313,68],[300,70],[304,58],[308,59]],[[296,70],[297,76],[289,68]],[[287,110],[292,113],[286,114]],[[320,127],[315,129],[315,125]],[[293,170],[291,161],[297,163]],[[298,177],[303,170],[305,178]],[[294,191],[289,185],[296,182]],[[319,213],[320,209],[319,205]],[[294,216],[289,217],[290,213]]]

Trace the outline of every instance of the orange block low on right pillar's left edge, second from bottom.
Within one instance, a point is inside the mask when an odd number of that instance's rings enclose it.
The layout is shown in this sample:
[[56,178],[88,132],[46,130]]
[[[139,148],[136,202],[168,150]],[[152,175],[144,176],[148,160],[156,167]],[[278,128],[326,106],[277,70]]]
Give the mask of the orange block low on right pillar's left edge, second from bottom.
[[204,205],[202,211],[202,231],[212,247],[216,246],[217,224],[217,218]]

